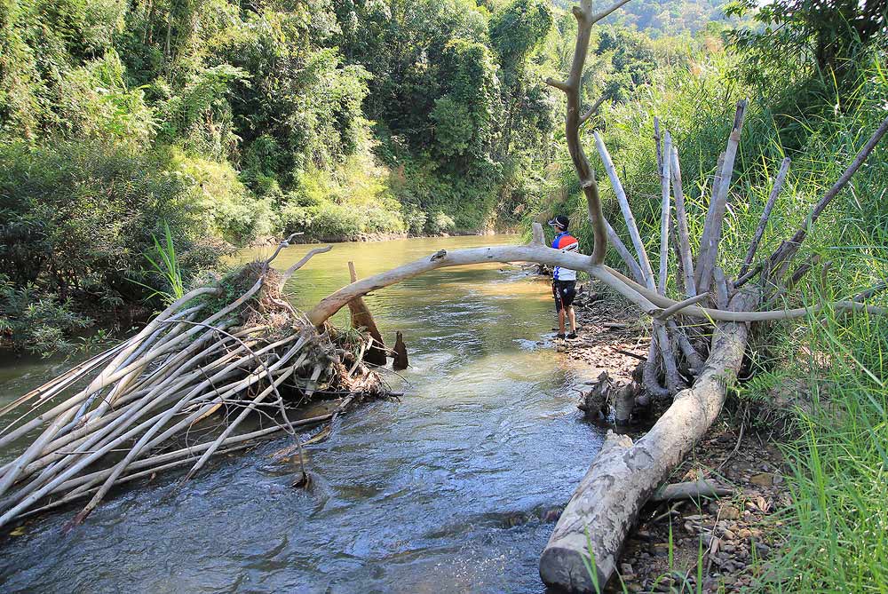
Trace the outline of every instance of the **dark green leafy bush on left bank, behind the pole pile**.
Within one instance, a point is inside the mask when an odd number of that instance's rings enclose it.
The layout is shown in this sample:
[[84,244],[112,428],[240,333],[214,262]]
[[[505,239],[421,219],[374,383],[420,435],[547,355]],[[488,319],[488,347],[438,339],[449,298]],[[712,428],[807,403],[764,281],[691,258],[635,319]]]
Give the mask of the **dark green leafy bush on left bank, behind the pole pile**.
[[145,257],[164,221],[186,281],[218,264],[226,249],[204,247],[198,184],[170,172],[168,156],[92,143],[0,145],[3,323],[6,333],[18,329],[17,346],[45,352],[109,305],[166,290]]

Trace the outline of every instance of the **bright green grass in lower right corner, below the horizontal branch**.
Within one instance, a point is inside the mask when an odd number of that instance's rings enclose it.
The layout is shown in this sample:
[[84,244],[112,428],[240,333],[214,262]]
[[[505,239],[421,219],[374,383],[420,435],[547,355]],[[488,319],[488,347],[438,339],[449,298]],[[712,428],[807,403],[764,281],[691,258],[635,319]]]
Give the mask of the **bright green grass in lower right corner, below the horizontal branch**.
[[784,447],[793,504],[785,550],[765,590],[888,591],[888,323],[866,315],[812,323],[829,358],[809,381],[812,407]]

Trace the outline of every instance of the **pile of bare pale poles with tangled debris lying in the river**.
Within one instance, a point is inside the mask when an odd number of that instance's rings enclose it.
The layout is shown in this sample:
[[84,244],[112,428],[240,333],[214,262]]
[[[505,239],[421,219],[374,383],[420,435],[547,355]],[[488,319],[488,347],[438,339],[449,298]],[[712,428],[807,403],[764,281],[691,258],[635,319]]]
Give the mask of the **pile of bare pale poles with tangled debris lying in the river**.
[[[297,426],[337,416],[355,394],[382,392],[361,362],[360,333],[319,331],[280,297],[322,250],[282,275],[273,256],[191,291],[136,336],[0,410],[15,417],[0,447],[28,444],[0,466],[0,527],[90,497],[75,526],[116,485],[185,465],[190,479],[211,455],[281,432],[301,461]],[[240,297],[226,301],[232,294]],[[321,390],[349,396],[329,415],[289,419]]]

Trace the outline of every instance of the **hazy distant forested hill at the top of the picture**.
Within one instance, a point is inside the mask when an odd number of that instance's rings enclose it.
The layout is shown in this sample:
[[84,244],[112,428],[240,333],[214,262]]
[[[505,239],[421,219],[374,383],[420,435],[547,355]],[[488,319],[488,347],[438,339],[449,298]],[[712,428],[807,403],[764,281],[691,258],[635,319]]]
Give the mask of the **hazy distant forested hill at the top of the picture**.
[[[552,0],[560,8],[570,8],[573,0]],[[596,0],[597,8],[605,8],[611,0]],[[607,21],[632,25],[652,36],[695,33],[711,21],[725,20],[725,0],[633,0],[614,12]]]

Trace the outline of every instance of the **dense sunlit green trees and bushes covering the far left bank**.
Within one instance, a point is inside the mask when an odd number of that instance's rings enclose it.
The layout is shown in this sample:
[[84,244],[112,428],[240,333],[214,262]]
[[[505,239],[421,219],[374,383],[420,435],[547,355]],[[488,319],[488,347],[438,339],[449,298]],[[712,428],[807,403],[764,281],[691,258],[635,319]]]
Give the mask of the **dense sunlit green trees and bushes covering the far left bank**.
[[[514,227],[561,158],[549,0],[12,0],[0,31],[0,332],[33,350],[28,304],[67,332],[167,291],[164,222],[186,275],[294,231]],[[589,98],[681,46],[600,29]]]

